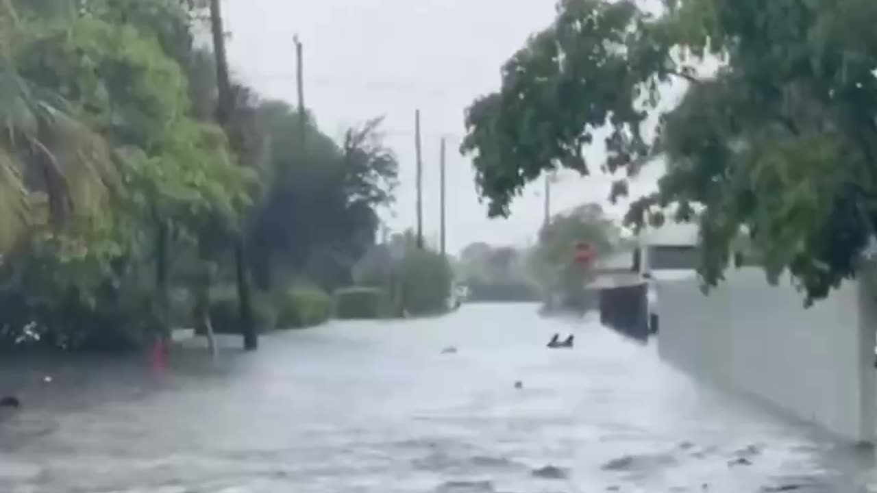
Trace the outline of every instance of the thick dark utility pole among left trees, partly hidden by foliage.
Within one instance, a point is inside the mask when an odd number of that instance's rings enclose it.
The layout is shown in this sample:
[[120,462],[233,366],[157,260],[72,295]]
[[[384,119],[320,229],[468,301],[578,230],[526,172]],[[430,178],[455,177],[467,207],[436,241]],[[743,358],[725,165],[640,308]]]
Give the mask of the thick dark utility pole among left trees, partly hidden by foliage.
[[[213,54],[216,57],[217,66],[217,123],[225,130],[229,141],[232,142],[232,151],[240,154],[242,152],[241,139],[232,128],[235,100],[232,94],[231,78],[228,74],[228,58],[225,54],[225,31],[220,0],[210,0],[210,32],[213,38]],[[253,325],[249,269],[246,266],[244,247],[244,236],[242,233],[238,233],[234,242],[234,263],[238,284],[240,330],[244,334],[244,349],[253,351],[259,347],[259,333],[256,332],[256,326]]]

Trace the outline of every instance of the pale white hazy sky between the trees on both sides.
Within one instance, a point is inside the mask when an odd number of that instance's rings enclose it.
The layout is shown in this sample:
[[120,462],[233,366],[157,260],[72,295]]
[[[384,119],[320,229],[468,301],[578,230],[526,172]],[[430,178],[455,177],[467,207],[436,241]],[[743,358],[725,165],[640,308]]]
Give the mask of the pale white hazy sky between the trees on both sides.
[[[439,139],[448,139],[447,245],[523,244],[543,218],[542,183],[517,199],[509,219],[488,219],[470,162],[457,149],[463,112],[496,90],[499,68],[554,15],[555,0],[225,0],[229,57],[262,96],[296,101],[293,36],[304,45],[305,97],[324,132],[384,116],[400,161],[391,227],[415,224],[414,111],[422,115],[424,232],[439,231]],[[595,157],[598,157],[597,154]],[[594,160],[592,160],[594,161]],[[596,162],[596,161],[594,161]],[[657,167],[656,167],[657,168]],[[634,191],[653,187],[648,169]],[[553,211],[609,193],[608,177],[576,175],[553,188]],[[620,210],[616,208],[616,211]]]

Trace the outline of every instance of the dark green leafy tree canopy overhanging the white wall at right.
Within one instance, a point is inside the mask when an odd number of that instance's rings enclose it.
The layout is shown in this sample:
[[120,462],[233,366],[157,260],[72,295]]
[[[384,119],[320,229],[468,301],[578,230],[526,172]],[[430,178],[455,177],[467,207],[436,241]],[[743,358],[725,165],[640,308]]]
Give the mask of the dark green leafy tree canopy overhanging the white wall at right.
[[[768,278],[788,271],[809,304],[855,275],[877,222],[875,20],[863,0],[666,0],[659,12],[562,0],[467,110],[461,150],[491,215],[547,170],[617,172],[617,197],[663,157],[659,191],[627,223],[660,225],[670,204],[674,220],[698,221],[706,286],[745,232]],[[685,95],[660,111],[673,81]],[[585,162],[602,134],[605,160]]]

